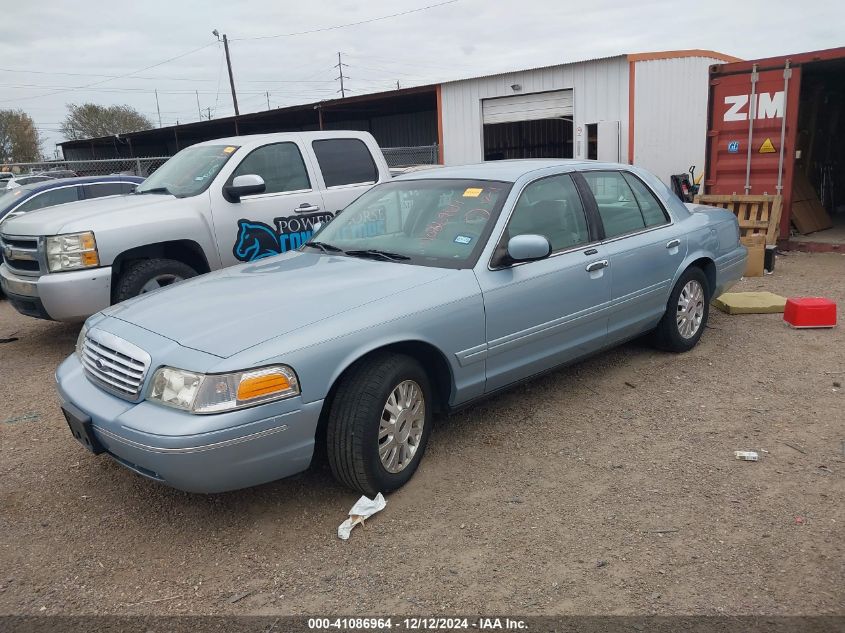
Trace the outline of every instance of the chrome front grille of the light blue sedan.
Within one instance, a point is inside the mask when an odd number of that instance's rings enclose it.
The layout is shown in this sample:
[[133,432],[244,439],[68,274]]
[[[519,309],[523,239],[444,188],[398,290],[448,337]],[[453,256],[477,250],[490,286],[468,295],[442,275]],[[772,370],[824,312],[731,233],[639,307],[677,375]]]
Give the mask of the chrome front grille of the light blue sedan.
[[82,365],[89,380],[126,400],[137,400],[150,366],[150,355],[129,341],[90,330],[82,345]]

